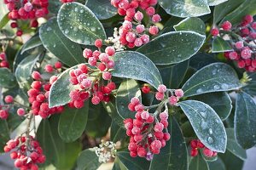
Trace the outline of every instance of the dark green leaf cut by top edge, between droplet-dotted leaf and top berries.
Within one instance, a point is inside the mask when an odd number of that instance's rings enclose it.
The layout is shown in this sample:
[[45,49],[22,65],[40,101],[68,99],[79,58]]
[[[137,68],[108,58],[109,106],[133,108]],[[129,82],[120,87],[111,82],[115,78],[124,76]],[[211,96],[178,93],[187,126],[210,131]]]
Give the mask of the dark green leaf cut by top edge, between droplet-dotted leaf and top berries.
[[88,0],[85,4],[99,20],[106,20],[117,14],[117,9],[108,0]]

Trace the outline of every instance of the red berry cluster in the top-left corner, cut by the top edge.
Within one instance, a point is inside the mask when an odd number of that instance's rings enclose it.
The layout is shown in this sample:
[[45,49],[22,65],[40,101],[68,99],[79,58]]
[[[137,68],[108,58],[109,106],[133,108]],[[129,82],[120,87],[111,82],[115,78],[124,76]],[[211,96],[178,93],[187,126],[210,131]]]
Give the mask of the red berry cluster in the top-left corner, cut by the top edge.
[[38,18],[44,17],[49,13],[48,0],[3,0],[9,9],[9,20],[15,20],[11,23],[12,28],[18,28],[17,36],[22,35],[18,20],[30,20],[31,27],[38,27]]

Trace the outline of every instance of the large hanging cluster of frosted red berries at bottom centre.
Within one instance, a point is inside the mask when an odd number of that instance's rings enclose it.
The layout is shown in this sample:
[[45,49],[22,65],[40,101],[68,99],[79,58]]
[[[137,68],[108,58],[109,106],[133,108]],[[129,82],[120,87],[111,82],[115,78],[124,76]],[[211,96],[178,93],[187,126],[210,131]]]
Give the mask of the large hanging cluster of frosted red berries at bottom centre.
[[145,110],[138,98],[132,98],[128,106],[130,111],[137,111],[135,119],[125,119],[126,134],[131,137],[128,150],[132,157],[146,157],[152,160],[154,154],[159,154],[170,139],[168,133],[168,112],[151,114]]

